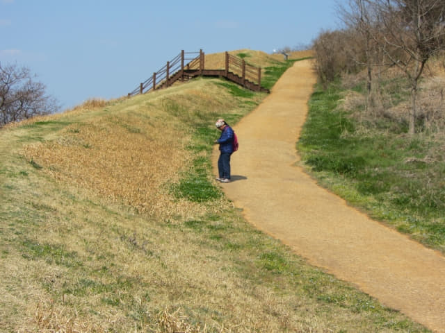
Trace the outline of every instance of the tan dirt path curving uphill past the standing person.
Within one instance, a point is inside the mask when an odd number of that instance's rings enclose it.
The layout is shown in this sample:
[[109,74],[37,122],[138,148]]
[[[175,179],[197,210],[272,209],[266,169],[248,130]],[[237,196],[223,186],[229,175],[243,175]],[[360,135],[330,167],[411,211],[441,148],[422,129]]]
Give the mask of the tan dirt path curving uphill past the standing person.
[[445,332],[445,258],[348,207],[295,166],[315,80],[309,60],[296,62],[235,126],[240,148],[225,194],[250,223],[311,264]]

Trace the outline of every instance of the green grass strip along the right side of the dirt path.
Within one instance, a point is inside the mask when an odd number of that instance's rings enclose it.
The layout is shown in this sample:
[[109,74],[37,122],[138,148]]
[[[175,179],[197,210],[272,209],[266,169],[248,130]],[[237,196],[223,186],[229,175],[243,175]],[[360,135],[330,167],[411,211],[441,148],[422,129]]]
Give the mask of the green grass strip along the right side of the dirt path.
[[[360,123],[339,108],[339,85],[318,87],[298,148],[310,172],[325,187],[375,219],[445,252],[445,189],[442,142],[409,137],[394,119]],[[359,112],[359,111],[358,111]],[[366,127],[366,136],[359,128]]]

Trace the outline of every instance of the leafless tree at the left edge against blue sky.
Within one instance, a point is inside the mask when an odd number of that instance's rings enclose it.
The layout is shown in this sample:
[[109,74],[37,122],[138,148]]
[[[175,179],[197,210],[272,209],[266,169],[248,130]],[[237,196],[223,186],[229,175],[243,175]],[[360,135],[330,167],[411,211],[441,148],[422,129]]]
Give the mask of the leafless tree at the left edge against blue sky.
[[33,80],[30,70],[0,63],[0,128],[13,121],[51,114],[58,103],[47,96],[43,83]]

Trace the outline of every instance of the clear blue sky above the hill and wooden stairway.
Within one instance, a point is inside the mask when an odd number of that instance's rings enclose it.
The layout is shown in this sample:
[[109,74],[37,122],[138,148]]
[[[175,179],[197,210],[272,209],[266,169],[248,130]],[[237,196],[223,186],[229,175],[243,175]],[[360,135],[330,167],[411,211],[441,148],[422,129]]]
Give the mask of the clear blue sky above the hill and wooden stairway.
[[272,53],[338,28],[334,0],[0,0],[0,62],[63,108],[126,95],[181,49]]

